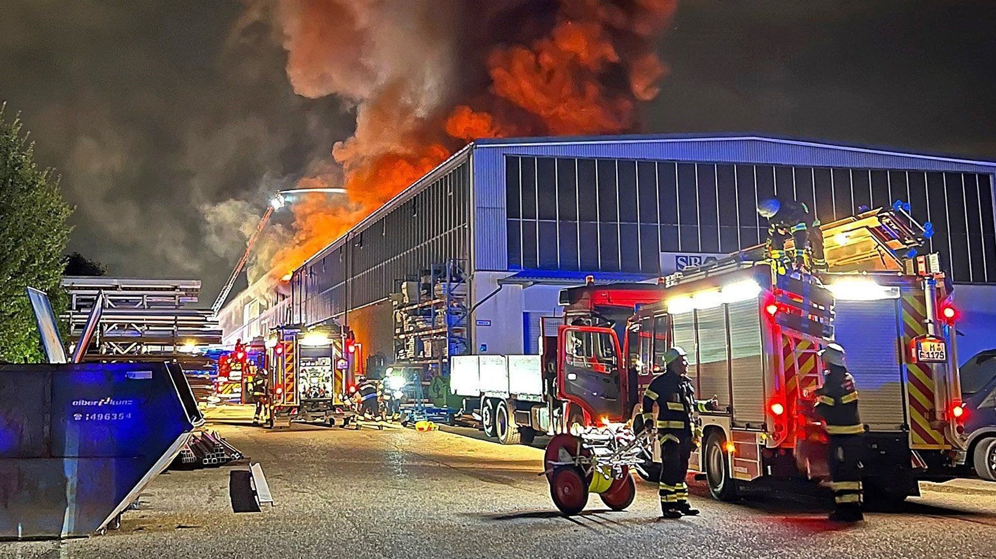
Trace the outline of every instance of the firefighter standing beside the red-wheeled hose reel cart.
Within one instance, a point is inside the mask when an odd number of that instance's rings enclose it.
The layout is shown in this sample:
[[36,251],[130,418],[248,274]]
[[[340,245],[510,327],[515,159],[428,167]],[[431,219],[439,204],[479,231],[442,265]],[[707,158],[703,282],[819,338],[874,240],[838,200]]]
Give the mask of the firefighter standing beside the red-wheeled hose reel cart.
[[697,445],[694,414],[715,410],[719,403],[695,400],[695,388],[686,376],[688,360],[678,346],[664,353],[664,372],[654,377],[643,392],[643,425],[653,420],[653,405],[657,405],[657,440],[660,443],[660,510],[664,518],[693,516],[698,510],[688,504],[688,458]]

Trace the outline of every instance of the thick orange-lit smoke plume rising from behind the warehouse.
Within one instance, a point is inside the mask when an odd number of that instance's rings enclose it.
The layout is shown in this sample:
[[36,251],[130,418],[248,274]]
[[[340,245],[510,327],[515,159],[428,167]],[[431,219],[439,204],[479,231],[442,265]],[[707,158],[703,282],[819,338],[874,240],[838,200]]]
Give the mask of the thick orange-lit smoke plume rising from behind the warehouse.
[[[481,137],[618,133],[638,127],[666,68],[655,39],[676,0],[270,0],[287,76],[306,97],[336,95],[357,115],[331,157],[348,201],[293,206],[293,270],[455,149]],[[340,181],[342,181],[340,183]]]

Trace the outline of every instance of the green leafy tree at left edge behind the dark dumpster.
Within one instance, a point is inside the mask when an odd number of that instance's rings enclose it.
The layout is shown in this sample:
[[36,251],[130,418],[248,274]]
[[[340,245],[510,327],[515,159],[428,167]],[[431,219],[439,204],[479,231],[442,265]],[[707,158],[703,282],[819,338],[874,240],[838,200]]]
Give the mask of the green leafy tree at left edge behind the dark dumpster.
[[25,287],[48,292],[57,313],[65,309],[60,280],[71,213],[58,177],[35,163],[20,119],[8,121],[0,105],[0,360],[42,361]]

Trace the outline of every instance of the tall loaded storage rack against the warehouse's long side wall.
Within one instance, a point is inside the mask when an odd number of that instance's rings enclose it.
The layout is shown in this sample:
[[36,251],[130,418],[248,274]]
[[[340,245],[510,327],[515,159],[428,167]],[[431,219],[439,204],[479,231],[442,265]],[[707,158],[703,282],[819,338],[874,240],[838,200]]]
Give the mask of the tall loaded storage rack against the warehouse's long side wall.
[[412,394],[413,411],[416,418],[424,419],[434,415],[425,407],[425,392],[433,379],[447,381],[449,357],[468,350],[467,280],[463,263],[450,260],[398,284],[392,297],[394,366],[420,371],[420,383]]

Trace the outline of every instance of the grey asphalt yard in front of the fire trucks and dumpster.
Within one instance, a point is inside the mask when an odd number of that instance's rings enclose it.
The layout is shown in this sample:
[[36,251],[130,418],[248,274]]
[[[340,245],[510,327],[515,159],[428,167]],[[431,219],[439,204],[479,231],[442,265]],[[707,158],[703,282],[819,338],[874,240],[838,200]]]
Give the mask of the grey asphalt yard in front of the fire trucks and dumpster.
[[593,496],[582,515],[565,518],[538,475],[541,449],[501,446],[471,429],[217,429],[263,465],[275,506],[233,513],[231,467],[168,472],[120,530],[0,543],[0,557],[996,557],[996,484],[981,481],[924,484],[923,496],[856,526],[826,521],[822,500],[723,503],[700,483],[699,517],[658,519],[655,488],[638,482],[625,511]]

